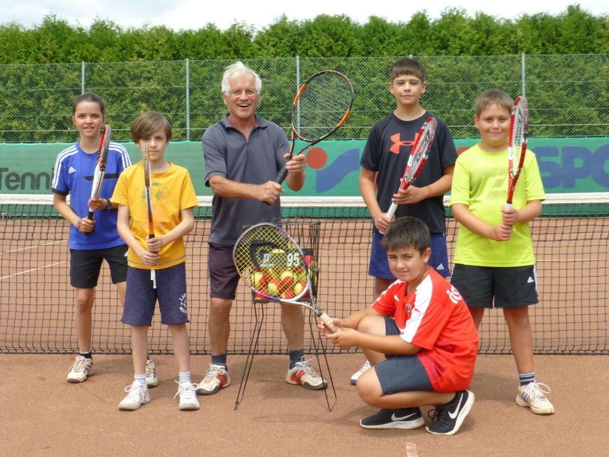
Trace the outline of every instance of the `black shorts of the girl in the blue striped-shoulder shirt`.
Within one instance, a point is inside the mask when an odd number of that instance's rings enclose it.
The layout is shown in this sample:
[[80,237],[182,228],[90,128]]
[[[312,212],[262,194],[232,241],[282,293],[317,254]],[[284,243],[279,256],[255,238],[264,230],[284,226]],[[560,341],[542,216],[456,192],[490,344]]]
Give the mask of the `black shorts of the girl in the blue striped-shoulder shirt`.
[[97,286],[102,261],[110,267],[112,283],[127,280],[127,245],[106,249],[70,249],[70,285],[79,289]]

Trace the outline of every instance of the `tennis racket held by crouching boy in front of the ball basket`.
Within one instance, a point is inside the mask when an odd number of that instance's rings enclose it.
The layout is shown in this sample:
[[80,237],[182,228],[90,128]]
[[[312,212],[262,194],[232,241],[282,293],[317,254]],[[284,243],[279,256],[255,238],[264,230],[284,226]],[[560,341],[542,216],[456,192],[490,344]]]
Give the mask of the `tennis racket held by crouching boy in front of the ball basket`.
[[340,331],[315,303],[313,260],[309,265],[306,263],[302,249],[283,228],[266,223],[247,228],[234,245],[233,260],[239,276],[260,296],[305,306],[332,333]]

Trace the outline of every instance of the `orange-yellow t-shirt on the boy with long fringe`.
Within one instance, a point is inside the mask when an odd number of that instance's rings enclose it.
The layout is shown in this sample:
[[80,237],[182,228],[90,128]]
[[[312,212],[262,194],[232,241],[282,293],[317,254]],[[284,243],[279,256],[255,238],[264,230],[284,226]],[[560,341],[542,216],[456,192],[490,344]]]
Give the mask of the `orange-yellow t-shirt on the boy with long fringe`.
[[[188,170],[170,163],[169,169],[150,175],[152,194],[152,221],[155,236],[170,232],[181,222],[181,210],[197,206],[197,196]],[[129,207],[129,228],[138,243],[146,247],[148,238],[148,210],[144,189],[144,166],[141,161],[125,169],[119,176],[113,202]],[[141,269],[163,269],[186,261],[184,239],[178,238],[161,248],[160,260],[155,266],[147,266],[129,248],[127,264]]]

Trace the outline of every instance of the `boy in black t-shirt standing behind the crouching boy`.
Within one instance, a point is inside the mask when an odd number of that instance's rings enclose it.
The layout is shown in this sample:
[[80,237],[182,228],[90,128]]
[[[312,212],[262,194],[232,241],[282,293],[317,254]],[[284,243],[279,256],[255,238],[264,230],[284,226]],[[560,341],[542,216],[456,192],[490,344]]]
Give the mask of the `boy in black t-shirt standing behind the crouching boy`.
[[[379,230],[385,232],[391,222],[386,213],[392,202],[399,205],[395,218],[415,216],[427,224],[431,233],[429,265],[443,277],[450,276],[442,200],[451,188],[457,151],[446,122],[434,116],[438,127],[428,161],[414,185],[398,192],[400,179],[416,139],[415,135],[425,119],[432,115],[419,103],[427,83],[425,69],[418,60],[398,60],[390,68],[389,76],[389,90],[396,99],[397,107],[393,113],[372,127],[360,161],[362,169],[359,175],[359,190],[374,221],[368,269],[368,274],[375,277],[372,301],[395,281],[389,270],[387,253],[382,247],[382,235],[379,233]],[[351,377],[351,383],[355,384],[357,377],[369,366],[366,362],[362,369]]]

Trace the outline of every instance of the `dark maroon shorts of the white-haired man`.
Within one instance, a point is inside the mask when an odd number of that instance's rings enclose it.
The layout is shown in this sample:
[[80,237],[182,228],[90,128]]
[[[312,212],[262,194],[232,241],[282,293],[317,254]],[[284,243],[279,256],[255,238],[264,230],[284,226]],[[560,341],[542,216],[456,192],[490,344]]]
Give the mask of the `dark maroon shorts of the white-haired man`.
[[234,300],[239,273],[234,267],[233,246],[209,243],[207,269],[209,296],[214,299]]

